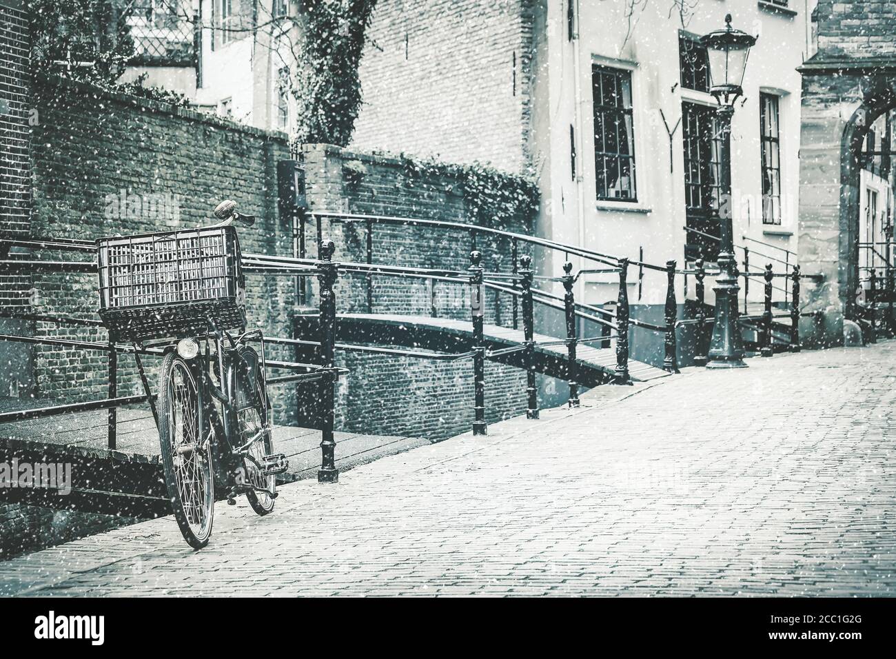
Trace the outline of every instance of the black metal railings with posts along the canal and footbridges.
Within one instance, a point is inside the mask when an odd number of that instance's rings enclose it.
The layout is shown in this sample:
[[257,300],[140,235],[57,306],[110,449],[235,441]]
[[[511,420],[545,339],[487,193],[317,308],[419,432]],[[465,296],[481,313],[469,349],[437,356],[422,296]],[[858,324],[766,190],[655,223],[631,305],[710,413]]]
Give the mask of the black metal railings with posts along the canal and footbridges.
[[[306,217],[306,213],[299,213],[302,218]],[[473,408],[474,434],[485,434],[486,426],[486,410],[485,410],[485,360],[488,358],[498,358],[511,352],[519,351],[524,353],[523,368],[527,373],[526,382],[526,405],[527,416],[530,418],[538,418],[538,395],[535,381],[536,364],[535,351],[538,345],[547,347],[549,345],[564,345],[566,348],[566,369],[565,377],[569,385],[568,404],[575,406],[579,404],[580,382],[578,371],[578,346],[585,343],[599,343],[602,347],[609,347],[610,343],[615,340],[616,343],[616,367],[613,369],[612,376],[607,378],[607,382],[615,384],[630,384],[631,376],[629,372],[629,332],[632,327],[639,327],[646,331],[662,334],[664,337],[665,355],[662,368],[669,372],[677,372],[676,364],[676,328],[681,326],[695,325],[697,333],[698,346],[707,346],[707,334],[712,325],[712,320],[705,305],[705,286],[704,280],[706,276],[714,274],[705,267],[702,262],[696,264],[691,269],[680,270],[676,267],[675,261],[668,261],[665,265],[656,265],[647,263],[641,259],[630,260],[628,258],[616,258],[607,254],[603,254],[594,250],[564,245],[546,238],[538,238],[524,234],[514,233],[512,231],[497,230],[488,227],[479,227],[470,224],[448,221],[434,221],[422,219],[399,218],[392,216],[367,216],[352,215],[346,213],[314,213],[316,219],[316,227],[318,235],[321,237],[318,243],[318,255],[316,259],[308,258],[304,253],[304,241],[302,241],[303,251],[294,256],[272,256],[259,255],[252,253],[243,254],[243,264],[246,273],[254,273],[263,276],[287,276],[295,277],[300,283],[297,285],[297,298],[300,303],[307,303],[309,299],[309,287],[307,282],[312,277],[316,277],[319,282],[319,335],[318,341],[303,341],[296,338],[286,339],[279,337],[266,337],[265,341],[270,343],[280,343],[283,345],[314,345],[318,351],[318,363],[301,363],[289,361],[269,361],[268,364],[272,368],[288,369],[298,371],[289,376],[272,377],[269,380],[271,385],[293,384],[302,381],[319,382],[320,396],[320,425],[322,431],[322,466],[318,472],[318,478],[321,481],[335,481],[338,471],[335,467],[335,441],[334,441],[334,417],[335,417],[335,393],[334,387],[341,372],[345,369],[339,369],[335,366],[335,354],[340,350],[366,351],[380,354],[391,354],[393,356],[412,357],[418,359],[433,360],[463,360],[471,359],[473,362]],[[335,245],[332,240],[324,239],[322,236],[323,217],[335,219],[343,222],[362,222],[366,226],[366,263],[333,261]],[[304,219],[303,219],[304,221]],[[401,266],[391,264],[375,264],[373,263],[373,227],[377,223],[394,224],[400,226],[422,226],[430,228],[441,228],[451,230],[465,230],[470,233],[471,247],[470,250],[470,266],[466,271],[459,269],[437,269],[437,268],[421,268],[413,266]],[[304,225],[303,229],[304,231]],[[478,235],[489,234],[500,238],[507,238],[511,245],[511,262],[512,271],[510,273],[487,272],[482,265],[482,253],[475,249],[476,239]],[[0,273],[96,273],[97,264],[91,261],[51,261],[44,259],[35,259],[30,257],[9,256],[8,247],[10,245],[20,245],[22,247],[33,247],[37,249],[47,249],[51,251],[62,250],[69,252],[93,253],[95,245],[90,241],[65,240],[61,238],[40,238],[36,240],[16,240],[5,241],[5,251],[0,254],[4,256],[0,260]],[[0,242],[0,247],[4,243]],[[568,260],[564,262],[563,274],[559,276],[537,275],[532,269],[531,256],[521,254],[520,247],[522,245],[542,247],[554,252],[562,252],[564,259],[569,256],[579,256],[586,261],[598,264],[599,267],[582,269],[578,273],[573,273],[573,264]],[[664,304],[664,322],[662,325],[651,323],[641,318],[632,317],[631,308],[628,298],[629,286],[629,269],[636,266],[640,272],[645,270],[662,274],[666,279],[666,296]],[[436,351],[401,351],[394,348],[384,348],[381,346],[370,345],[353,345],[336,342],[336,310],[337,300],[335,283],[339,273],[350,273],[363,276],[366,280],[367,290],[366,299],[368,304],[372,304],[373,299],[373,280],[375,276],[383,277],[400,277],[411,279],[426,279],[432,282],[446,282],[452,285],[469,286],[470,290],[470,320],[472,324],[472,350],[465,353],[440,353]],[[590,305],[581,301],[577,301],[574,295],[575,282],[587,274],[611,274],[616,275],[618,282],[618,290],[616,295],[616,308],[610,311],[607,308]],[[759,276],[757,273],[745,272],[746,276]],[[698,316],[694,321],[677,320],[677,300],[676,300],[676,277],[694,276],[696,284],[696,297],[699,301]],[[773,320],[775,316],[772,303],[771,291],[775,289],[775,279],[780,277],[788,278],[790,283],[789,294],[792,300],[789,315],[791,318],[790,338],[791,346],[798,349],[798,317],[799,317],[799,285],[800,273],[798,267],[795,267],[792,273],[772,273],[771,266],[767,266],[765,272],[761,273],[765,286],[764,311],[761,316],[745,316],[742,318],[745,322],[760,323],[762,330],[762,354],[766,349],[770,349],[771,336],[773,333]],[[563,287],[564,294],[557,295],[548,290],[540,290],[535,286],[535,282],[555,282],[560,283]],[[780,287],[779,287],[780,288]],[[521,311],[523,325],[523,340],[517,345],[495,351],[487,350],[487,343],[484,337],[484,293],[485,290],[494,290],[497,293],[509,295],[513,300],[513,325],[518,325],[519,315]],[[546,308],[560,310],[564,314],[565,336],[563,339],[556,341],[535,341],[535,304],[538,303]],[[30,319],[53,322],[52,316],[39,315],[7,315],[7,317],[22,317]],[[601,334],[595,337],[580,337],[578,335],[580,319],[584,319],[599,325]],[[75,319],[60,318],[56,316],[56,321],[71,322],[73,324],[99,325],[99,321],[92,319]],[[45,337],[24,337],[13,336],[11,334],[0,335],[0,340],[6,341],[22,341],[25,343],[43,343],[47,345],[67,345],[69,347],[78,347],[84,350],[106,351],[109,353],[109,395],[107,399],[99,401],[90,401],[87,403],[73,403],[73,405],[52,406],[47,408],[38,408],[37,410],[7,412],[0,414],[0,422],[14,421],[22,418],[37,418],[40,416],[50,416],[56,413],[67,413],[73,411],[88,411],[91,409],[108,409],[109,410],[109,447],[115,448],[115,417],[114,410],[125,404],[148,402],[153,404],[152,396],[138,396],[134,400],[131,397],[120,397],[116,395],[116,370],[118,368],[118,356],[121,353],[132,352],[135,360],[137,360],[138,369],[142,372],[142,364],[140,355],[159,355],[163,350],[158,347],[151,346],[127,346],[113,343],[97,343],[97,342],[77,342],[63,339],[52,339]],[[698,348],[698,351],[701,349]],[[702,360],[705,362],[705,351],[701,354]],[[142,377],[144,377],[142,375]],[[145,378],[145,377],[144,377]],[[20,416],[16,416],[20,415]],[[24,415],[24,416],[22,416]],[[35,416],[37,415],[37,416]]]

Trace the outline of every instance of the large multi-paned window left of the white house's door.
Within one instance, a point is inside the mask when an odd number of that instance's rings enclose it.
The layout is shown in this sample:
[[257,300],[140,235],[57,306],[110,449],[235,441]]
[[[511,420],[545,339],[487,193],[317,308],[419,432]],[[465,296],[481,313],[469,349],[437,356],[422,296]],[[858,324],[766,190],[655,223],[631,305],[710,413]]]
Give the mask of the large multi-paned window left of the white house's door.
[[594,65],[594,164],[602,201],[636,202],[632,74]]

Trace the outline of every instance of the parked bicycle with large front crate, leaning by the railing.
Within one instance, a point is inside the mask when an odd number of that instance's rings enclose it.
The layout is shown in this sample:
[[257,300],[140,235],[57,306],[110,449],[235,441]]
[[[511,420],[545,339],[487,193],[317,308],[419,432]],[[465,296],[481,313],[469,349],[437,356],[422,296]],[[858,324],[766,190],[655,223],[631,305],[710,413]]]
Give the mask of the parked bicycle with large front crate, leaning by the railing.
[[[289,464],[273,452],[264,337],[246,331],[246,281],[235,224],[254,216],[219,204],[220,224],[99,238],[99,316],[110,341],[134,343],[159,429],[168,499],[185,541],[211,537],[215,491],[228,504],[246,494],[260,516],[277,499]],[[234,334],[236,332],[236,334]],[[259,343],[259,351],[249,343]],[[153,402],[137,344],[163,347]]]

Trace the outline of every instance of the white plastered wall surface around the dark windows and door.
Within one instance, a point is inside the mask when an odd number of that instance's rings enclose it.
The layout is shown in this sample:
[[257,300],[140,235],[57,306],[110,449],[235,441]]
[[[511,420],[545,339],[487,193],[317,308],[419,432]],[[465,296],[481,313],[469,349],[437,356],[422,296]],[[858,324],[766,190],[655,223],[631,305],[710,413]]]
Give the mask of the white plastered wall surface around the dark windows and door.
[[[547,71],[549,82],[538,91],[535,106],[536,114],[551,118],[537,123],[533,154],[536,161],[547,163],[548,169],[539,177],[545,200],[539,232],[610,255],[633,259],[643,255],[643,260],[653,264],[670,259],[683,264],[685,161],[683,128],[678,121],[684,100],[711,107],[716,104],[707,93],[682,88],[678,33],[685,30],[700,36],[719,29],[724,26],[725,13],[730,12],[734,27],[758,36],[732,127],[736,243],[749,247],[741,238],[747,236],[796,251],[797,199],[792,195],[798,180],[800,80],[796,68],[807,48],[804,4],[798,3],[795,13],[771,13],[756,3],[704,1],[694,4],[684,18],[675,12],[670,15],[663,3],[638,4],[629,17],[628,4],[624,0],[576,2],[573,39],[568,35],[567,4],[547,4],[546,30],[538,32],[538,39],[546,43],[538,48],[547,53],[547,67],[539,68],[539,73]],[[596,200],[592,65],[625,69],[632,75],[637,203]],[[780,97],[781,188],[788,201],[780,226],[762,224],[761,91]],[[571,126],[575,134],[574,176]],[[671,137],[669,131],[673,131]],[[762,247],[757,249],[762,251]],[[743,252],[737,251],[740,259]],[[764,251],[782,256],[773,247]],[[587,267],[586,262],[581,265]],[[545,266],[559,269],[559,264]],[[685,294],[693,296],[693,285],[685,290],[684,278],[677,279],[678,299]],[[662,304],[666,293],[662,273],[645,273],[640,295],[636,280],[630,277],[629,281],[633,302]],[[616,298],[613,276],[591,275],[583,278],[581,286],[580,294],[590,302]],[[711,287],[710,280],[707,290]],[[757,301],[761,290],[758,285],[751,290]]]

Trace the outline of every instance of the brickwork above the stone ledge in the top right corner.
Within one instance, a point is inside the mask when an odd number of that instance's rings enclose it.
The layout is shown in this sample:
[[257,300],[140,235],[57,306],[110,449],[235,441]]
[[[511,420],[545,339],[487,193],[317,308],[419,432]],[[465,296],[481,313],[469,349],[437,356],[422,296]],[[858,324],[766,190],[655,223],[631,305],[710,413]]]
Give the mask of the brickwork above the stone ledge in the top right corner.
[[820,0],[819,56],[896,56],[896,3],[892,0]]

